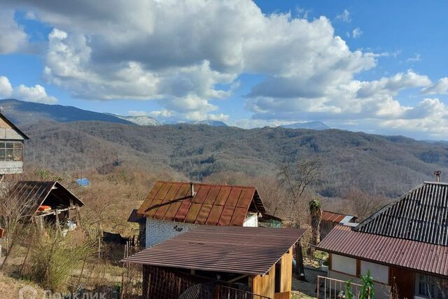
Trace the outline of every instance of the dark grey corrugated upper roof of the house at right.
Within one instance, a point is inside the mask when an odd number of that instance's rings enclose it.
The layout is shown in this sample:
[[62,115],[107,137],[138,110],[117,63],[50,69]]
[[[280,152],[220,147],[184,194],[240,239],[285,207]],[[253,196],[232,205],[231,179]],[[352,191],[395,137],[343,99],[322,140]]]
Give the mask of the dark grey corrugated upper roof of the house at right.
[[448,246],[448,184],[425,182],[354,230]]

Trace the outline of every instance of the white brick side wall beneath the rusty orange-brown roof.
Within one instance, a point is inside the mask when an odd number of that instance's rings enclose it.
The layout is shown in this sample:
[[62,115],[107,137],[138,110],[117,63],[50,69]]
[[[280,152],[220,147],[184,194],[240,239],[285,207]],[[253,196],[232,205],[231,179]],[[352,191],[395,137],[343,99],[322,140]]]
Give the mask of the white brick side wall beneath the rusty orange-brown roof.
[[166,239],[181,235],[197,226],[191,223],[146,218],[146,247],[154,246]]

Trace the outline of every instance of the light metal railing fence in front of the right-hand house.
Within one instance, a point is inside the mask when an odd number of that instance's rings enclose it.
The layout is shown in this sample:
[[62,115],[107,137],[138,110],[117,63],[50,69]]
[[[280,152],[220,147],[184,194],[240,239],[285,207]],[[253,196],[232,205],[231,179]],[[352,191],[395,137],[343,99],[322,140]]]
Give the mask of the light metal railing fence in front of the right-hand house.
[[[360,284],[350,284],[350,291],[353,298],[359,298],[363,286]],[[317,298],[322,299],[341,299],[346,298],[346,281],[332,279],[330,277],[317,277]]]

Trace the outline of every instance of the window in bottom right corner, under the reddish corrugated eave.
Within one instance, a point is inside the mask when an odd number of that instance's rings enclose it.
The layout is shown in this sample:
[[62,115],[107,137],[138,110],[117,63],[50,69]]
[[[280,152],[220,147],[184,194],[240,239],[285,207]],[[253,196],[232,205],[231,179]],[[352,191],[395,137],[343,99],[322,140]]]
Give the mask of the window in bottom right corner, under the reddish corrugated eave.
[[432,275],[415,274],[415,295],[421,298],[448,298],[448,279]]

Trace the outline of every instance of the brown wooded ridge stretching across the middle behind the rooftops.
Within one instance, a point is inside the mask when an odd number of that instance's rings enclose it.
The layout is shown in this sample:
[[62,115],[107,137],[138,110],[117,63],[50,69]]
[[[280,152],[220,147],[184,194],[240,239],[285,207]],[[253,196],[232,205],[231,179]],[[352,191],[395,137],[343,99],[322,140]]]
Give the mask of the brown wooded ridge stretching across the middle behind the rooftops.
[[443,144],[342,130],[104,122],[40,122],[22,129],[31,137],[27,161],[64,172],[127,160],[201,180],[219,172],[275,175],[282,163],[318,157],[323,162],[319,192],[325,197],[352,187],[396,197],[431,180],[435,169],[448,174]]

